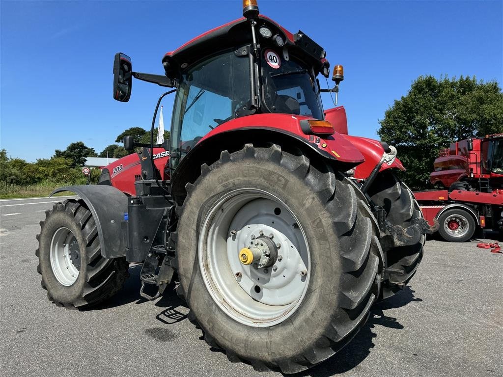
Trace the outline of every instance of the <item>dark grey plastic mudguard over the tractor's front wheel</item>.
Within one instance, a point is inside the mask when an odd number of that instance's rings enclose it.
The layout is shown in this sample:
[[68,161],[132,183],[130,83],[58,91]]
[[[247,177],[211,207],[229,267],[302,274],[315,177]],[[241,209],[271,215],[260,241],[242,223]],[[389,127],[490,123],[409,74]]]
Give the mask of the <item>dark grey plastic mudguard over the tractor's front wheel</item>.
[[78,195],[93,214],[100,237],[101,255],[104,258],[124,256],[127,232],[124,214],[127,213],[127,196],[115,187],[98,184],[60,187],[49,197],[63,191]]

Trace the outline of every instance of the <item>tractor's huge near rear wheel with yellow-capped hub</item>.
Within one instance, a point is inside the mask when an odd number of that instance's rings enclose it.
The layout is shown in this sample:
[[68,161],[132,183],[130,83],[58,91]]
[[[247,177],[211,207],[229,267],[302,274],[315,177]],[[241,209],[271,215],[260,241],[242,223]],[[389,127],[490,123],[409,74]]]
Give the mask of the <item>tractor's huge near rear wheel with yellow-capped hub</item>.
[[331,167],[277,145],[204,164],[179,211],[179,294],[206,342],[256,370],[304,370],[366,322],[377,225]]

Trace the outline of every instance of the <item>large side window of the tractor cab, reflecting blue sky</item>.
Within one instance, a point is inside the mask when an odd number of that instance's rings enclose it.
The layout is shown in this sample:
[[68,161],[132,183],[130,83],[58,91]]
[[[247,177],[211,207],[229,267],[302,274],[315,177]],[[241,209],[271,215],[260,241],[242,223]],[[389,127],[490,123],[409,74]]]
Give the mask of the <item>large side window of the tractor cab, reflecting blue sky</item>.
[[236,110],[250,101],[249,82],[249,61],[234,50],[184,73],[173,108],[172,158],[179,161],[204,135],[234,118]]

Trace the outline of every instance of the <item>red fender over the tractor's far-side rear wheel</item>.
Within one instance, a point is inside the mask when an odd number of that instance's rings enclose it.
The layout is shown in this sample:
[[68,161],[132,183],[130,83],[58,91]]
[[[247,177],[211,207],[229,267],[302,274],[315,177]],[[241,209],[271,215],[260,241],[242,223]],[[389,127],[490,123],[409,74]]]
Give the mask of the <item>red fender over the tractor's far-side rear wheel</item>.
[[[358,150],[365,157],[365,162],[361,163],[355,168],[355,178],[368,178],[374,167],[381,160],[381,157],[384,153],[384,148],[377,140],[368,139],[361,136],[344,135],[344,137],[356,148],[358,148]],[[379,171],[391,168],[405,170],[405,167],[403,167],[401,161],[398,158],[395,158],[390,165],[383,163]]]

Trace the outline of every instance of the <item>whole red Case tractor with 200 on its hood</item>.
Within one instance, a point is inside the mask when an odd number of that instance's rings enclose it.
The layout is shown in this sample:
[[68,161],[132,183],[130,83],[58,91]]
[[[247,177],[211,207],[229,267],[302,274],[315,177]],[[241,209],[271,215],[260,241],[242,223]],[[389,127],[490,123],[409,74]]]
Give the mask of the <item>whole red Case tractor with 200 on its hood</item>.
[[[114,98],[133,77],[172,88],[171,139],[103,169],[100,184],[47,212],[38,235],[42,287],[87,308],[116,293],[130,262],[140,294],[176,280],[189,319],[213,347],[257,370],[298,372],[328,358],[371,306],[403,288],[432,231],[393,169],[396,149],[345,135],[325,51],[259,15],[194,38],[162,58],[163,75],[114,61]],[[149,291],[150,287],[150,291]],[[153,293],[151,289],[154,289]]]

